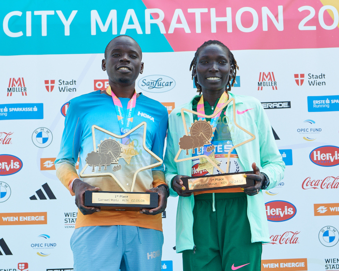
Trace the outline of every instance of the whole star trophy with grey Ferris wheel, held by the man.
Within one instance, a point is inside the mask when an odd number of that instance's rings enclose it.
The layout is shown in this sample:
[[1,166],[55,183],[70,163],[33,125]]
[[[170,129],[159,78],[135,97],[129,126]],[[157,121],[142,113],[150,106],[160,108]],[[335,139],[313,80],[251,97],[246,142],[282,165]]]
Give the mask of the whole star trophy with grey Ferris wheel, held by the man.
[[93,151],[87,154],[80,172],[86,182],[100,191],[85,192],[85,206],[101,206],[102,210],[139,211],[156,208],[157,193],[145,191],[143,180],[152,179],[147,170],[162,165],[162,160],[146,146],[146,122],[141,122],[124,135],[113,134],[92,126]]

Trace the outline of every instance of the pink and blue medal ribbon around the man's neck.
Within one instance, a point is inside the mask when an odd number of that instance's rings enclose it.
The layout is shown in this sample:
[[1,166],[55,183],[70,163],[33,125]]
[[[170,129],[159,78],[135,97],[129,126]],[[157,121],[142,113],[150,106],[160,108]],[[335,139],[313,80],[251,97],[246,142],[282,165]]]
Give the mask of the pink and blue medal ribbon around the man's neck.
[[[122,135],[124,135],[128,133],[129,130],[131,130],[130,128],[132,126],[134,110],[135,110],[136,102],[137,102],[137,92],[134,91],[132,99],[129,100],[127,104],[126,117],[124,117],[123,105],[121,104],[121,101],[114,94],[114,92],[110,89],[110,86],[108,86],[106,92],[112,96],[113,104],[115,106],[115,111],[118,117],[120,132]],[[124,118],[126,118],[126,120],[124,120]]]

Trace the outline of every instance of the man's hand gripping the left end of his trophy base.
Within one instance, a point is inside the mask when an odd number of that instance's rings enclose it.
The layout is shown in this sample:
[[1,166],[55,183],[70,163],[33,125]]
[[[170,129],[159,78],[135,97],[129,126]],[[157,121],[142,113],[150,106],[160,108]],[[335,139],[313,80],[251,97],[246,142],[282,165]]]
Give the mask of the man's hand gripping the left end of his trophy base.
[[92,214],[93,212],[100,211],[100,207],[86,207],[84,205],[85,191],[99,191],[99,187],[94,187],[87,182],[76,179],[73,182],[73,192],[76,194],[76,205],[82,214]]

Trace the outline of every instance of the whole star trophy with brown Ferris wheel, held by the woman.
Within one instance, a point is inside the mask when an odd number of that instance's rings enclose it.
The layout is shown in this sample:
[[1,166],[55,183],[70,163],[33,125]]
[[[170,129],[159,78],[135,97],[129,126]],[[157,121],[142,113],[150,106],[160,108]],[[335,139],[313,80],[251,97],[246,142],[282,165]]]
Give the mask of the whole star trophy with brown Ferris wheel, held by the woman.
[[[228,114],[223,113],[223,109],[229,104],[232,105],[233,110],[229,110]],[[193,123],[187,123],[185,112],[196,115],[196,120]],[[192,177],[181,179],[185,186],[183,193],[254,185],[253,180],[245,177],[253,171],[239,170],[240,163],[235,149],[254,140],[255,135],[236,122],[234,98],[221,105],[212,115],[182,108],[181,116],[185,135],[180,138],[179,151],[174,161],[192,160]],[[211,123],[214,118],[217,121]],[[211,121],[206,119],[211,119]],[[187,126],[190,127],[187,129]],[[189,150],[192,150],[191,155]],[[231,166],[233,173],[230,173]]]

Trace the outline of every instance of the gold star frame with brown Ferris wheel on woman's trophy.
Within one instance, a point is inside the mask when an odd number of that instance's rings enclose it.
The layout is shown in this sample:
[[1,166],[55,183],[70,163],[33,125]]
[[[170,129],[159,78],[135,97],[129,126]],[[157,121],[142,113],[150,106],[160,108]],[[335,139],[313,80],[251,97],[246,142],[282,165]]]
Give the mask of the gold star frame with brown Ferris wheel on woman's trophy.
[[[186,158],[182,158],[182,159],[178,159],[178,158],[179,158],[179,155],[180,155],[181,151],[183,151],[183,150],[186,151],[186,155],[188,155],[188,150],[189,149],[192,149],[192,153],[195,153],[195,151],[194,151],[195,148],[198,148],[198,150],[199,150],[200,147],[201,147],[202,150],[203,150],[203,146],[204,145],[211,144],[211,137],[213,136],[213,133],[215,131],[215,128],[213,128],[211,126],[209,121],[206,121],[206,120],[196,120],[194,123],[191,124],[190,132],[188,133],[188,130],[187,130],[187,127],[186,127],[186,124],[185,124],[186,121],[185,121],[184,112],[192,113],[192,114],[197,115],[199,117],[211,118],[212,119],[213,117],[215,117],[220,111],[222,111],[230,103],[232,103],[231,105],[233,105],[233,123],[234,123],[234,125],[236,127],[240,128],[241,130],[243,130],[246,134],[250,135],[251,138],[249,138],[246,141],[241,142],[241,143],[239,143],[237,145],[234,145],[228,151],[228,154],[227,154],[227,165],[230,165],[231,151],[233,151],[236,147],[244,145],[247,142],[250,142],[250,141],[255,139],[255,135],[253,135],[252,133],[248,132],[246,129],[244,129],[243,127],[238,125],[238,123],[236,122],[236,120],[235,120],[236,112],[235,112],[235,100],[234,100],[234,98],[229,99],[224,105],[222,105],[220,108],[218,108],[212,115],[204,115],[204,114],[195,112],[195,111],[190,110],[190,109],[182,108],[181,109],[181,117],[183,119],[185,135],[183,137],[181,137],[180,141],[179,141],[179,151],[178,151],[178,153],[176,154],[176,156],[174,158],[174,161],[176,163],[199,158],[200,164],[199,164],[198,168],[206,169],[210,174],[212,174],[213,173],[213,168],[216,167],[216,169],[218,169],[221,173],[225,173],[219,167],[220,166],[220,162],[215,159],[214,151],[212,152],[213,155],[211,153],[209,156],[207,156],[206,154],[200,154],[200,155],[193,156],[193,157],[186,157]],[[214,149],[212,146],[210,147],[210,151],[212,149]],[[209,166],[208,164],[210,164],[211,166]],[[226,168],[226,171],[227,171],[226,173],[229,173],[229,169],[230,169],[230,167],[228,166]]]

